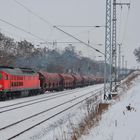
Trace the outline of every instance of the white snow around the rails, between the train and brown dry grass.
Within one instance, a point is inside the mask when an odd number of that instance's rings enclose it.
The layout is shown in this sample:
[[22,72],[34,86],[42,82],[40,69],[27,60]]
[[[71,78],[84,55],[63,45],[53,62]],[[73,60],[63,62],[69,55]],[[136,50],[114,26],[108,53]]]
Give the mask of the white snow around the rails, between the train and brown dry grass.
[[[34,124],[45,120],[46,118],[49,118],[53,114],[75,104],[76,102],[79,102],[80,100],[86,99],[90,97],[91,95],[94,95],[93,91],[96,91],[98,89],[102,89],[103,84],[99,85],[94,85],[94,86],[88,86],[84,88],[77,88],[74,90],[65,90],[63,92],[59,93],[52,93],[50,95],[58,95],[61,93],[67,94],[66,96],[62,97],[57,97],[57,98],[52,98],[50,100],[45,100],[43,102],[37,102],[35,104],[31,104],[29,106],[24,106],[29,103],[22,103],[25,101],[41,98],[40,100],[44,100],[45,97],[50,96],[49,94],[44,94],[40,96],[34,96],[34,97],[29,97],[29,98],[20,98],[20,99],[15,99],[15,100],[9,100],[9,101],[4,101],[0,102],[0,129],[8,126],[9,124],[11,125],[12,123],[18,122],[24,118],[28,118],[30,116],[33,116],[34,114],[38,114],[38,112],[43,112],[44,110],[49,110],[49,108],[53,108],[54,106],[57,106],[63,102],[67,102],[69,100],[73,100],[69,103],[67,103],[65,106],[60,106],[57,107],[56,109],[51,109],[48,112],[44,112],[41,115],[38,115],[36,117],[27,119],[23,122],[17,123],[16,125],[13,125],[11,127],[8,127],[6,129],[0,130],[0,140],[7,140],[11,136],[14,136],[15,134],[29,128],[30,126],[33,126]],[[90,94],[89,94],[90,93]],[[85,94],[85,95],[84,95]],[[82,96],[82,98],[78,98],[78,96]],[[32,101],[35,102],[35,101]],[[17,104],[17,103],[22,103],[22,104]],[[14,106],[9,106],[13,105]],[[22,108],[19,108],[19,106],[22,106]],[[6,108],[5,108],[6,106]],[[67,133],[68,131],[71,131],[69,127],[67,127],[69,124],[69,121],[74,118],[76,121],[79,121],[79,119],[76,118],[82,118],[81,116],[81,111],[80,107],[82,106],[81,104],[77,104],[71,109],[68,109],[64,113],[61,113],[57,115],[56,117],[45,121],[44,123],[41,123],[37,127],[34,127],[33,129],[30,129],[29,131],[19,135],[16,138],[16,140],[56,140],[56,138],[59,138],[61,140],[60,134],[63,135],[63,132],[60,133],[61,127],[66,129]],[[14,110],[11,110],[11,108],[16,108]],[[5,112],[5,110],[7,110]],[[4,112],[3,112],[4,111]]]

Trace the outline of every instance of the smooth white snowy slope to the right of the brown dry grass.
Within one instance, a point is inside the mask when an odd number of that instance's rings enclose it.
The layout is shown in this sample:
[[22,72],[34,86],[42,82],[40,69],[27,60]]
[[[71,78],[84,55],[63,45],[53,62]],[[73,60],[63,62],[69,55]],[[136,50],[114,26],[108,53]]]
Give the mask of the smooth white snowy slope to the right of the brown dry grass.
[[[132,111],[126,106],[131,104]],[[99,125],[80,140],[140,140],[140,77],[123,99],[103,114]]]

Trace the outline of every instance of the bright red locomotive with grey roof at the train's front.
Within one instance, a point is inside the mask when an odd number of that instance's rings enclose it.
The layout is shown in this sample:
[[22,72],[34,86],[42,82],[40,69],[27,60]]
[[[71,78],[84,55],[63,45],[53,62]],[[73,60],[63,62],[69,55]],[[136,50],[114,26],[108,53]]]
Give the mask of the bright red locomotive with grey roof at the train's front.
[[37,94],[39,74],[28,68],[0,67],[0,99]]

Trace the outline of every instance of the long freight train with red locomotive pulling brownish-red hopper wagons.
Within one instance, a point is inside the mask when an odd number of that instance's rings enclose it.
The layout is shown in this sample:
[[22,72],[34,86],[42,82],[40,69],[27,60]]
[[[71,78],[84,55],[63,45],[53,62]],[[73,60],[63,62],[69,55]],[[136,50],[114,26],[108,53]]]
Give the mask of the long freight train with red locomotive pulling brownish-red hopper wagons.
[[94,75],[35,72],[30,68],[0,66],[0,100],[62,91],[102,83],[103,77]]

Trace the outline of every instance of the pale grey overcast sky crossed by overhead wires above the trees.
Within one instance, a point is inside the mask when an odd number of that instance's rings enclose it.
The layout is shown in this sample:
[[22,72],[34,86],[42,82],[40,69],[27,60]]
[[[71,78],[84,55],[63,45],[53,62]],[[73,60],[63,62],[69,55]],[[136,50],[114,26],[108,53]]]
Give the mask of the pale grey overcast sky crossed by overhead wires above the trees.
[[[106,0],[17,0],[30,8],[38,15],[45,18],[53,25],[105,25],[105,3]],[[129,2],[130,0],[118,0],[118,2]],[[33,16],[14,0],[0,0],[0,18],[45,39],[46,41],[75,41],[67,35],[57,31],[51,25],[44,23]],[[122,52],[128,67],[138,66],[133,55],[135,48],[139,47],[140,39],[140,0],[131,0],[131,8],[125,6],[122,11],[117,7],[118,42],[123,42]],[[129,11],[129,12],[128,12]],[[128,22],[127,22],[128,17]],[[127,24],[126,24],[127,23]],[[87,42],[88,38],[92,45],[104,44],[104,27],[102,28],[63,28],[65,31],[75,35]],[[7,36],[16,40],[26,39],[39,44],[42,42],[24,32],[21,32],[0,21],[0,30]],[[100,54],[81,44],[73,44],[82,54],[99,59]],[[58,48],[67,46],[59,44]],[[104,51],[104,46],[95,48]],[[100,58],[101,59],[101,58]]]

